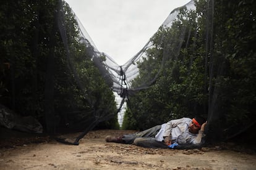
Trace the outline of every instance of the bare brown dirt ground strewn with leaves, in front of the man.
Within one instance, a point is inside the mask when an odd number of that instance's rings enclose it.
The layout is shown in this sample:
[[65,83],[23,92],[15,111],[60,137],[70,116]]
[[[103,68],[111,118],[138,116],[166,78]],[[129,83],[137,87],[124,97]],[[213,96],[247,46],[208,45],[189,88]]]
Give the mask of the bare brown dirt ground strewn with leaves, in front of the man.
[[91,131],[79,145],[66,145],[48,136],[6,137],[1,130],[0,169],[256,169],[255,150],[232,144],[173,150],[105,142],[107,135],[129,132]]

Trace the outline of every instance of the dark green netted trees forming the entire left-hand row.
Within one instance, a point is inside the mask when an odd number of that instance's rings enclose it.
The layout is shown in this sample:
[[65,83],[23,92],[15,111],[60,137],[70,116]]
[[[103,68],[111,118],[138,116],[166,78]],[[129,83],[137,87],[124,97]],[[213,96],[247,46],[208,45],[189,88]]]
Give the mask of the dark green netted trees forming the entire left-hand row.
[[[64,16],[59,15],[59,2],[2,2],[0,102],[22,116],[40,119],[42,124],[53,121],[56,128],[69,124],[83,129],[92,123],[90,119],[111,118],[111,124],[106,124],[112,127],[117,124],[113,92],[88,55],[90,49],[81,43],[79,26],[70,7],[63,1],[60,10]],[[60,32],[57,20],[62,17],[65,27]],[[49,65],[53,68],[51,73]],[[53,75],[52,81],[49,75]],[[53,83],[53,89],[47,83]],[[46,105],[49,93],[53,103]],[[53,113],[46,119],[48,107]]]

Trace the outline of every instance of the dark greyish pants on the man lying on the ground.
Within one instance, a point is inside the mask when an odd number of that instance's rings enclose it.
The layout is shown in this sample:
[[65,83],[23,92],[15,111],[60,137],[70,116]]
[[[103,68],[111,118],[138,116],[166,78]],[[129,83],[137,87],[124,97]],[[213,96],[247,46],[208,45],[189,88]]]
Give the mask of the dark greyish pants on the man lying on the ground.
[[135,144],[145,148],[168,148],[164,142],[159,142],[155,139],[155,136],[160,129],[161,125],[157,125],[142,132],[125,134],[122,137],[122,140],[124,141],[124,144]]

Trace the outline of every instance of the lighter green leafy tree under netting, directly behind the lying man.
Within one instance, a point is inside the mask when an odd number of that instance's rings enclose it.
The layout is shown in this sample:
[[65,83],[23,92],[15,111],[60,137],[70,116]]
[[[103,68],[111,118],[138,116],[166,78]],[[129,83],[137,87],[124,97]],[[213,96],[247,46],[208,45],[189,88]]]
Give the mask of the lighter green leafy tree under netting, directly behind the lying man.
[[199,46],[202,41],[195,38],[197,15],[186,8],[180,10],[173,26],[160,28],[151,39],[153,47],[147,50],[148,58],[139,63],[140,75],[134,84],[153,79],[155,75],[158,78],[150,88],[129,97],[124,128],[142,130],[169,119],[203,114],[207,94],[204,57],[198,55],[203,53]]

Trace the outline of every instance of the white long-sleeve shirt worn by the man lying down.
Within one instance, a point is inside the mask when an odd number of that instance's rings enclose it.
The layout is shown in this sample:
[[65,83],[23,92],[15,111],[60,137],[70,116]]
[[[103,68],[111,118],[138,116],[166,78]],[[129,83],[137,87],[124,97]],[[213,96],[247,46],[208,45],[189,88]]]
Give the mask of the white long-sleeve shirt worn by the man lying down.
[[171,136],[172,143],[178,144],[200,144],[203,132],[199,131],[198,134],[189,132],[189,124],[192,119],[181,118],[168,121],[161,125],[161,129],[156,134],[155,139],[163,141],[165,136]]

